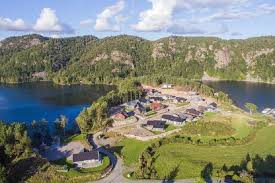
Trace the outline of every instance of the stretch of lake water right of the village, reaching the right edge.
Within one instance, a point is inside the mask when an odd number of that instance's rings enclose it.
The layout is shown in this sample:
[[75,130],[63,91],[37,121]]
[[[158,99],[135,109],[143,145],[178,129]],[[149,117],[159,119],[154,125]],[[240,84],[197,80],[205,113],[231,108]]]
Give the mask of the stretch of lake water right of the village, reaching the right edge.
[[217,91],[229,94],[235,104],[241,108],[244,108],[246,102],[256,104],[260,111],[267,107],[275,108],[275,85],[238,81],[204,83]]

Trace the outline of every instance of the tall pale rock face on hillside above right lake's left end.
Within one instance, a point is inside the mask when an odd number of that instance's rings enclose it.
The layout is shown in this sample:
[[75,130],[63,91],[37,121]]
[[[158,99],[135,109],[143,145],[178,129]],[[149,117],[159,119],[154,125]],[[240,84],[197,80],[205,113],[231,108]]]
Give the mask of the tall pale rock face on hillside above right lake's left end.
[[224,68],[230,63],[230,50],[226,47],[221,50],[215,50],[214,56],[217,62],[216,68]]

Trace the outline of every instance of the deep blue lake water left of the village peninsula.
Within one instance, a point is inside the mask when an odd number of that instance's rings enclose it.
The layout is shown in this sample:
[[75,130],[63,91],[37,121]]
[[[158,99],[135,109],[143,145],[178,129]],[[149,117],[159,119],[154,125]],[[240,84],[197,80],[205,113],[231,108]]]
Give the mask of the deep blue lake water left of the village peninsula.
[[0,121],[52,123],[59,115],[70,122],[93,101],[112,89],[107,85],[58,86],[51,82],[0,84]]

